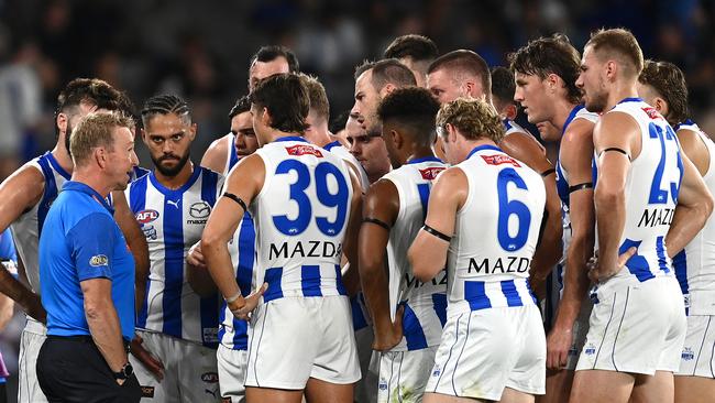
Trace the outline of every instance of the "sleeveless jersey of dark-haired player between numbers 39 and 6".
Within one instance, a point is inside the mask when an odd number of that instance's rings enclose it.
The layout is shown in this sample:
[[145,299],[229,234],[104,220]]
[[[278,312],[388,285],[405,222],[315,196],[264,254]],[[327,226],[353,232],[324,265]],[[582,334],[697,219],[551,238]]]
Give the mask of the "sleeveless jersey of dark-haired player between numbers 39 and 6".
[[413,160],[391,171],[383,179],[397,188],[399,213],[389,231],[387,260],[389,266],[391,314],[404,305],[403,341],[393,351],[418,350],[438,346],[447,320],[447,272],[431,282],[415,279],[407,260],[407,250],[425,225],[432,181],[446,168],[437,157]]

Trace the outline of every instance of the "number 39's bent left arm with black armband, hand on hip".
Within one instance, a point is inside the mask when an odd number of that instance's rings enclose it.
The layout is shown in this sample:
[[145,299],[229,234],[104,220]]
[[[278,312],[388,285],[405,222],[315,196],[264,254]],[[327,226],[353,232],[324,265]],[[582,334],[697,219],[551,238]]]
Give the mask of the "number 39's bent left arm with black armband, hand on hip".
[[216,203],[201,236],[201,250],[211,277],[231,312],[242,318],[246,318],[248,313],[255,308],[265,286],[243,298],[233,274],[228,242],[243,219],[245,207],[263,188],[264,177],[265,165],[261,156],[254,154],[242,159],[227,177],[224,194]]

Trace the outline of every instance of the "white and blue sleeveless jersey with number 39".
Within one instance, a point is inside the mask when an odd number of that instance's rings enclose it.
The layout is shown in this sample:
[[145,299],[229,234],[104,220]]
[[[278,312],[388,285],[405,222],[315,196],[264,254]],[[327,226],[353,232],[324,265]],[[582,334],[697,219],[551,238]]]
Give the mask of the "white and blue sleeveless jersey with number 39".
[[250,210],[254,284],[268,283],[263,301],[345,295],[340,259],[353,194],[345,163],[299,137],[277,139],[256,154],[265,179]]

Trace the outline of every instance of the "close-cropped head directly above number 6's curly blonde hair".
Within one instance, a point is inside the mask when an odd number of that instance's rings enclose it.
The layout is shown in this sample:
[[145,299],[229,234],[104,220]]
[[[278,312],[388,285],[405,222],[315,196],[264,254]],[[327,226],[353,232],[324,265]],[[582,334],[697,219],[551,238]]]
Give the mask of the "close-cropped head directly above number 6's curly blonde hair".
[[482,56],[472,51],[452,51],[427,68],[427,88],[440,104],[459,97],[492,101],[492,75]]

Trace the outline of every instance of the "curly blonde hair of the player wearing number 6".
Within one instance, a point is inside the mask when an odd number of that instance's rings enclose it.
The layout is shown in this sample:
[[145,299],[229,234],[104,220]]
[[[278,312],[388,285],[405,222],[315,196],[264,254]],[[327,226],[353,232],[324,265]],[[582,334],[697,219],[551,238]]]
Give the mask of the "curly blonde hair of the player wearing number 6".
[[487,138],[498,143],[505,133],[494,107],[480,99],[458,98],[442,105],[437,113],[437,126],[444,128],[447,123],[469,140]]

